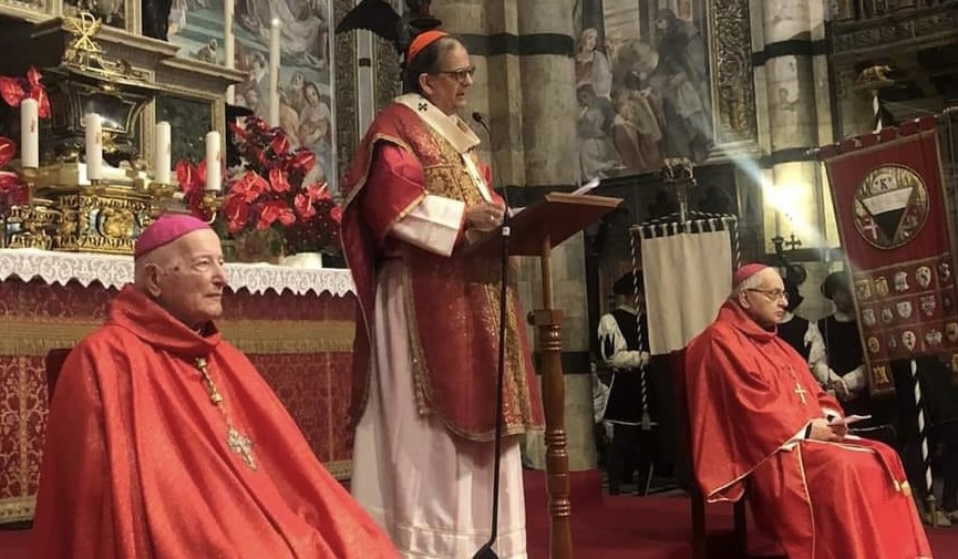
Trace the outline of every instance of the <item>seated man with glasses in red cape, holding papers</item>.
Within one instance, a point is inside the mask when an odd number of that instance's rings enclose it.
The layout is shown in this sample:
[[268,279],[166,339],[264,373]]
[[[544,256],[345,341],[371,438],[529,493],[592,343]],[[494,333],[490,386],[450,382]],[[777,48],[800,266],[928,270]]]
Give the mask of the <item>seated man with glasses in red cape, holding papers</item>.
[[931,557],[897,454],[848,435],[842,407],[775,334],[782,278],[749,265],[689,344],[692,464],[709,501],[748,499],[790,559]]

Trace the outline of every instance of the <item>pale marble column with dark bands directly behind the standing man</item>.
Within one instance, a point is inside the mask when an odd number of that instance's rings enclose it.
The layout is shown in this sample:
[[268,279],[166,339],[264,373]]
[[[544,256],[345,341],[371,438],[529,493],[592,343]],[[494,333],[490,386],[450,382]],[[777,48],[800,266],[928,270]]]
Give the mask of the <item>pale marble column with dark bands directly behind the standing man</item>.
[[[519,9],[521,8],[521,9]],[[432,4],[446,31],[470,50],[476,76],[468,112],[483,113],[492,138],[483,156],[496,168],[511,203],[522,206],[540,194],[571,186],[579,176],[576,143],[575,69],[570,58],[573,0],[450,0]],[[463,115],[470,120],[468,114]],[[471,120],[470,120],[471,122]],[[528,188],[528,189],[526,189]],[[517,271],[526,311],[542,308],[537,259]],[[588,317],[581,236],[553,253],[555,306],[566,314],[563,350],[566,381],[566,431],[570,469],[595,467],[591,439],[591,389],[588,376]],[[530,340],[536,332],[529,329]],[[526,463],[545,467],[542,436],[527,437]]]

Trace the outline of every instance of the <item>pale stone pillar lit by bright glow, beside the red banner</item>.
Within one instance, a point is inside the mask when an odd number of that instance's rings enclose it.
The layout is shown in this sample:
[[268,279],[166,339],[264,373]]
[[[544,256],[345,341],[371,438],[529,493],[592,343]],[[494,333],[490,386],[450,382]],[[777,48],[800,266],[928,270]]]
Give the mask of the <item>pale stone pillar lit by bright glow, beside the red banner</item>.
[[794,235],[805,249],[835,247],[831,194],[820,164],[807,155],[832,142],[824,3],[765,0],[755,17],[760,143],[769,154],[765,251],[773,250],[775,236]]

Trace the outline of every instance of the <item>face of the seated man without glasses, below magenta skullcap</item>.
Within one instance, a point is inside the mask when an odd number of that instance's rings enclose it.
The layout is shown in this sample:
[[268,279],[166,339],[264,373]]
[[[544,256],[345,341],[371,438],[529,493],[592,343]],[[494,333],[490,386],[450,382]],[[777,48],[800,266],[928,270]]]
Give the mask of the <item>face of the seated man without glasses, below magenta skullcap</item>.
[[219,237],[200,229],[173,241],[151,286],[156,302],[189,328],[200,328],[223,314],[226,270]]

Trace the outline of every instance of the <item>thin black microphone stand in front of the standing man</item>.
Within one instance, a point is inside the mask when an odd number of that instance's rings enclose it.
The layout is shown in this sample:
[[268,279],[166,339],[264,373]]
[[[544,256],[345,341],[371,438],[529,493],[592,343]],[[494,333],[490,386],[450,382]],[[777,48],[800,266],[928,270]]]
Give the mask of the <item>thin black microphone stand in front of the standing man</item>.
[[[492,132],[490,127],[486,125],[485,120],[482,114],[473,113],[473,121],[478,123],[486,132],[486,135],[490,138],[490,147],[492,148]],[[495,164],[495,152],[492,152],[493,164]],[[493,173],[498,173],[498,166],[496,165],[493,168]],[[496,416],[495,416],[495,442],[494,442],[494,452],[495,457],[493,459],[493,510],[492,510],[492,522],[490,528],[490,539],[483,544],[483,546],[478,549],[478,551],[473,555],[473,559],[498,559],[498,555],[493,551],[493,546],[496,542],[496,537],[498,536],[498,519],[499,519],[499,470],[502,468],[502,446],[503,446],[503,387],[505,385],[505,364],[506,364],[506,294],[507,294],[507,286],[508,286],[508,259],[509,259],[509,237],[512,235],[512,228],[509,226],[512,221],[512,216],[509,215],[509,200],[508,194],[506,193],[506,186],[502,187],[503,193],[503,201],[505,201],[505,211],[503,213],[503,225],[502,225],[502,255],[501,255],[501,267],[502,273],[499,277],[499,354],[498,354],[498,371],[496,379]]]

